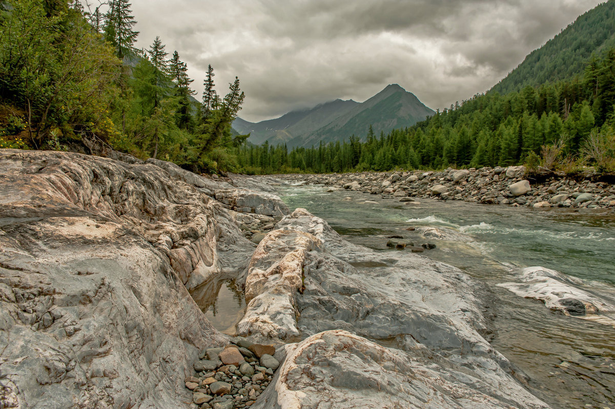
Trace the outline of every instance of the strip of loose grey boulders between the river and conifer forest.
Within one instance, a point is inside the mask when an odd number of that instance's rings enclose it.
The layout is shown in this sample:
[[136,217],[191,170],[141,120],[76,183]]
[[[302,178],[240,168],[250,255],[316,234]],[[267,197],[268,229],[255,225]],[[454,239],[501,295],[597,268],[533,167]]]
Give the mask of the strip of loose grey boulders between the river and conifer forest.
[[332,175],[277,175],[282,180],[305,181],[332,189],[351,189],[411,202],[437,197],[483,204],[529,207],[615,208],[615,186],[590,178],[573,180],[551,175],[537,180],[523,166],[446,169],[441,172],[363,172]]

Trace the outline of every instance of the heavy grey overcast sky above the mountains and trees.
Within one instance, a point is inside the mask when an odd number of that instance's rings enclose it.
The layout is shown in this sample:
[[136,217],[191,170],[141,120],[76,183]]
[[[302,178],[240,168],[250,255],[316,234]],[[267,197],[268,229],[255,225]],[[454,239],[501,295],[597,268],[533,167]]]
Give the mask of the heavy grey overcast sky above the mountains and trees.
[[[91,1],[91,0],[90,0]],[[239,115],[278,117],[388,84],[430,108],[490,89],[600,0],[133,0],[137,46],[156,36],[188,63],[200,100],[211,64]]]

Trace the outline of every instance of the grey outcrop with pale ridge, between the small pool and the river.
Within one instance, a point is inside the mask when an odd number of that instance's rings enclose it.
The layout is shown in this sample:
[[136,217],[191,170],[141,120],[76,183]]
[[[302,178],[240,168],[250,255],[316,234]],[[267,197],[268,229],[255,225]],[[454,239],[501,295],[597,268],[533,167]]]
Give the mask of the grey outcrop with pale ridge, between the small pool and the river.
[[[252,269],[245,281],[247,294],[269,304],[261,316],[246,314],[242,330],[253,325],[258,332],[266,321],[298,332],[271,331],[273,341],[303,341],[286,347],[274,389],[254,407],[547,407],[480,335],[486,289],[462,271],[412,253],[350,244],[301,208],[276,227],[251,263],[266,254],[271,274]],[[300,256],[287,262],[293,252]],[[370,264],[380,267],[354,267]]]

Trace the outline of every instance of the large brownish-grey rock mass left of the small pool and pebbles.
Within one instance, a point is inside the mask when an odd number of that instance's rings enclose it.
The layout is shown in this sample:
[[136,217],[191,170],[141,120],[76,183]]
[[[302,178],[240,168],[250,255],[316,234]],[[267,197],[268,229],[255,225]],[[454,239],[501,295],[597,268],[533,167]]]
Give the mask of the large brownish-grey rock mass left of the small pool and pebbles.
[[130,162],[0,150],[0,407],[186,407],[199,350],[228,342],[188,289],[253,252],[213,199],[232,186]]

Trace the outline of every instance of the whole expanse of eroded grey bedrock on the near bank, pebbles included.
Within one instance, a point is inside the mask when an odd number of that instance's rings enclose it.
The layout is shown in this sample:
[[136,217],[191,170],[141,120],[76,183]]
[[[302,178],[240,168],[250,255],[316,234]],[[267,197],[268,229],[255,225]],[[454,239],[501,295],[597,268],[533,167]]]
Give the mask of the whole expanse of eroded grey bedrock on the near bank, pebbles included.
[[[116,158],[0,151],[1,406],[548,407],[461,270],[383,260],[249,178]],[[222,279],[235,337],[191,297]]]

